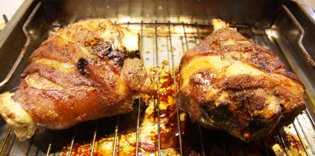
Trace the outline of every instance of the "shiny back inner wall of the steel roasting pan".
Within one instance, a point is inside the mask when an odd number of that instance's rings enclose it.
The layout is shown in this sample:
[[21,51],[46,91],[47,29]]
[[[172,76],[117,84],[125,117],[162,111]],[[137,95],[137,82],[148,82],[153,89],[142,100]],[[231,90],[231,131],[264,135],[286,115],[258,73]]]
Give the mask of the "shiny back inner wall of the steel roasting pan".
[[[221,16],[226,21],[235,24],[252,24],[256,26],[267,25],[276,13],[277,1],[84,1],[75,3],[70,0],[45,1],[52,21],[59,24],[73,23],[87,17],[104,16],[117,22],[134,21],[184,21],[208,22],[211,18]],[[54,5],[61,3],[60,5]],[[225,6],[222,11],[221,6]],[[246,8],[246,9],[239,9]],[[259,8],[259,9],[257,9]],[[58,12],[56,12],[58,10]],[[266,14],[267,13],[267,14]],[[62,16],[60,18],[60,16]]]

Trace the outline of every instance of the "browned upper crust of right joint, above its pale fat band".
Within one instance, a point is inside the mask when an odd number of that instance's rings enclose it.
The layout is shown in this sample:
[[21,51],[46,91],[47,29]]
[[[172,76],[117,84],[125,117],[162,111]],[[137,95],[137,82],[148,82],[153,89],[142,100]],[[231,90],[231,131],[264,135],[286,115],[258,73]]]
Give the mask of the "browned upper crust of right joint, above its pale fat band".
[[[244,43],[234,43],[231,45],[224,45],[227,40],[246,41]],[[197,46],[186,51],[185,55],[180,61],[180,69],[189,63],[192,57],[204,55],[223,55],[230,51],[239,51],[241,53],[250,53],[250,57],[232,56],[231,59],[242,61],[246,64],[253,65],[258,69],[271,73],[280,73],[292,78],[302,84],[297,76],[291,72],[287,72],[284,63],[276,55],[271,55],[268,51],[260,45],[252,43],[246,39],[236,29],[222,28],[211,33]],[[197,55],[197,56],[196,56]],[[304,87],[304,85],[302,85]]]

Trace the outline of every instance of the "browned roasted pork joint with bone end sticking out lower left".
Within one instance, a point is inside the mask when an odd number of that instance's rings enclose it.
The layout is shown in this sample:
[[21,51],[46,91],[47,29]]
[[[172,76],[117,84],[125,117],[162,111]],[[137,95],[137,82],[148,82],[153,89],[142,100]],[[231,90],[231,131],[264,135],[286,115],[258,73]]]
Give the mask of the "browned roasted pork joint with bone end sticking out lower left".
[[37,125],[66,129],[132,111],[152,75],[139,52],[139,34],[108,19],[60,29],[35,50],[15,93],[0,95],[0,113],[20,140]]

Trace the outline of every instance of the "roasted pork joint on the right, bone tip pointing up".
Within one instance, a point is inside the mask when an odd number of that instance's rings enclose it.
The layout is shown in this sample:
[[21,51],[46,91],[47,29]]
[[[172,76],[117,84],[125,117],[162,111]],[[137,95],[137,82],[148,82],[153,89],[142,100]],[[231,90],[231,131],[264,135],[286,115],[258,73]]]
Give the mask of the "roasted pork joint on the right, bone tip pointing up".
[[219,19],[186,51],[176,99],[193,122],[245,142],[292,123],[305,109],[305,87],[284,63]]

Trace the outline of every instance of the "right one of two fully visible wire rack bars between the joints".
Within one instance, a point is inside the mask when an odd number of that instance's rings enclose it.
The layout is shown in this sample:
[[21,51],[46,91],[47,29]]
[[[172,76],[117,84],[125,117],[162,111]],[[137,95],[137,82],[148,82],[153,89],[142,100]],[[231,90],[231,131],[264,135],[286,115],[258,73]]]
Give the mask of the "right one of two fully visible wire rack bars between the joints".
[[[173,81],[174,81],[174,89],[175,89],[175,97],[176,97],[176,91],[177,91],[177,85],[176,85],[176,74],[175,74],[175,65],[174,65],[174,57],[173,57],[173,45],[172,45],[172,37],[171,37],[171,25],[169,21],[169,42],[170,42],[170,50],[171,50],[171,59],[172,59],[172,68],[173,68]],[[180,124],[180,114],[179,114],[179,106],[176,101],[176,115],[177,115],[177,124],[178,124],[178,137],[179,137],[179,145],[180,145],[180,155],[184,155],[183,153],[183,145],[182,145],[182,136],[181,136],[181,124]]]

